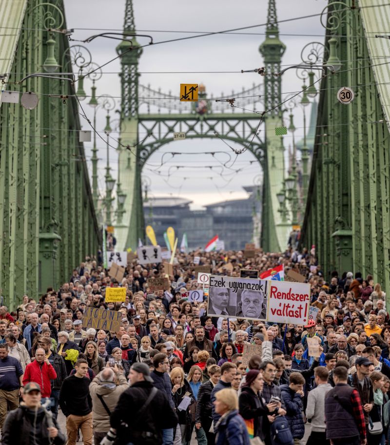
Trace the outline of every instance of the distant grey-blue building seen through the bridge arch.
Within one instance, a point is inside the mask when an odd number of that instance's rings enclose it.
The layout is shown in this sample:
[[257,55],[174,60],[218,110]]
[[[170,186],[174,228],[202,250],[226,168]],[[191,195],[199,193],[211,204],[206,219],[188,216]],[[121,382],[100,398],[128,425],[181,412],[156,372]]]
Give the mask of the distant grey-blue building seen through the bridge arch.
[[203,248],[216,234],[225,242],[226,250],[243,249],[245,243],[254,242],[254,232],[259,237],[254,221],[261,219],[260,187],[244,187],[244,190],[249,193],[247,199],[217,202],[200,211],[191,211],[192,201],[184,198],[151,198],[144,203],[145,223],[155,230],[160,246],[165,246],[164,232],[172,226],[179,245],[183,233],[187,233],[189,250]]

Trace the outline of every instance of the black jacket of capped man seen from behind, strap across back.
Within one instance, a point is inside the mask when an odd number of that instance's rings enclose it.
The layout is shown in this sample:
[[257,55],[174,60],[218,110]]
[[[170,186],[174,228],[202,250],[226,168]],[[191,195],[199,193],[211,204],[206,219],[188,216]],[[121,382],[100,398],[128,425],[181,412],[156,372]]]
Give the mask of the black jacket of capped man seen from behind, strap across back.
[[[112,428],[117,429],[118,445],[128,444],[140,445],[132,437],[133,431],[153,431],[159,441],[156,445],[162,443],[162,429],[173,428],[177,425],[176,412],[170,406],[167,396],[163,391],[158,390],[156,396],[152,399],[150,405],[138,416],[139,410],[148,398],[153,384],[149,382],[137,382],[129,389],[126,389],[119,398],[117,406],[110,417]],[[123,428],[121,424],[127,424],[129,428]]]

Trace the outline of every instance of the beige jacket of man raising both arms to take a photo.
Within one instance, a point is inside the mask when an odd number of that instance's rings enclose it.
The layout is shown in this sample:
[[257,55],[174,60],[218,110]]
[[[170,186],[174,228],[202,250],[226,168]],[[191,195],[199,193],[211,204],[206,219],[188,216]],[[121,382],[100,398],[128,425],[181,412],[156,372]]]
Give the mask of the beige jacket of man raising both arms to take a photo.
[[117,406],[118,400],[122,392],[124,392],[129,384],[126,377],[121,374],[118,375],[117,384],[102,382],[100,380],[101,373],[92,380],[89,385],[89,393],[92,399],[92,422],[94,431],[105,432],[110,429],[110,416],[107,414],[104,406],[102,405],[98,395],[103,397],[108,409],[113,412]]

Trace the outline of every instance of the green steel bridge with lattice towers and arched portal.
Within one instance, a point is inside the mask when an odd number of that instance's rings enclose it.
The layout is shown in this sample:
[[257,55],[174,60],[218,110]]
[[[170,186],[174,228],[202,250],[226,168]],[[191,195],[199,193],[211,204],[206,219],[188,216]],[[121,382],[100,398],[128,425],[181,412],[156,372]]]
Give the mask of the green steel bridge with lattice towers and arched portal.
[[[179,102],[157,86],[139,83],[142,48],[132,1],[124,4],[123,39],[117,46],[122,97],[113,221],[117,250],[135,249],[144,238],[141,173],[148,158],[175,132],[185,132],[187,139],[222,139],[239,144],[238,152],[253,153],[263,174],[259,243],[265,251],[283,251],[292,228],[300,226],[301,247],[315,244],[326,275],[334,269],[372,273],[389,292],[389,39],[375,37],[390,32],[385,0],[374,5],[329,1],[318,18],[324,42],[306,45],[301,62],[289,67],[303,80],[299,97],[282,95],[286,46],[279,39],[275,0],[269,0],[259,48],[263,61],[257,62],[264,67],[261,84],[226,97],[208,97],[199,87],[196,103]],[[92,184],[80,142],[82,82],[59,75],[82,75],[92,67],[83,48],[67,38],[63,1],[0,0],[0,28],[5,30],[0,45],[0,288],[15,307],[24,293],[37,296],[59,286],[86,255],[97,255],[102,203],[96,133]],[[20,81],[20,73],[40,74]],[[337,100],[341,87],[354,92],[348,105]],[[8,92],[35,93],[39,103],[33,109],[9,103]],[[308,97],[316,95],[312,147],[305,128],[304,140],[293,139],[287,155],[280,128],[288,127],[293,135],[294,107],[308,105]],[[229,107],[227,101],[238,96],[251,96],[237,105],[252,105],[258,112]],[[110,181],[109,169],[106,176]],[[113,199],[107,198],[109,208]],[[106,219],[110,215],[107,211]]]

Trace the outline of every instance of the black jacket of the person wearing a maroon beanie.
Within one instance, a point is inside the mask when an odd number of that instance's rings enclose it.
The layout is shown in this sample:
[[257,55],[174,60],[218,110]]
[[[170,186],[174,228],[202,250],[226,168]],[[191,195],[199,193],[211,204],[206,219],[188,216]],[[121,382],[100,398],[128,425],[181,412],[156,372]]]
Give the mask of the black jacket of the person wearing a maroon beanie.
[[259,436],[264,440],[266,432],[262,427],[262,417],[269,414],[268,408],[250,387],[243,387],[238,398],[239,413],[243,419],[254,420],[254,437]]

